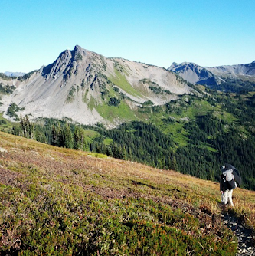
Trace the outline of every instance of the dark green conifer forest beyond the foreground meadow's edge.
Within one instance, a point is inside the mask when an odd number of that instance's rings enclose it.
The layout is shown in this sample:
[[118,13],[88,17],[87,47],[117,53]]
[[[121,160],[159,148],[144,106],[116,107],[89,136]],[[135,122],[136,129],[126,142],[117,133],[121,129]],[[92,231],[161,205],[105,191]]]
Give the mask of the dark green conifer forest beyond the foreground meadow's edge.
[[[210,100],[208,98],[208,102]],[[20,122],[13,125],[11,133],[54,146],[103,153],[159,169],[175,169],[213,181],[220,174],[220,166],[229,162],[240,170],[243,187],[255,189],[253,97],[247,100],[240,95],[230,97],[224,94],[224,97],[218,97],[214,94],[211,101],[216,104],[215,100],[221,103],[221,110],[232,114],[235,120],[221,118],[221,115],[209,111],[186,121],[183,126],[188,139],[186,146],[178,145],[171,133],[166,134],[154,124],[140,121],[106,130],[100,124],[81,126],[68,120],[54,119],[45,119],[39,124],[31,123],[28,117],[20,117]],[[185,103],[178,103],[178,106],[178,112],[184,111]],[[170,104],[166,108],[166,113],[172,109]],[[168,118],[165,122],[175,124],[176,121]],[[94,130],[97,136],[87,136],[86,130]]]

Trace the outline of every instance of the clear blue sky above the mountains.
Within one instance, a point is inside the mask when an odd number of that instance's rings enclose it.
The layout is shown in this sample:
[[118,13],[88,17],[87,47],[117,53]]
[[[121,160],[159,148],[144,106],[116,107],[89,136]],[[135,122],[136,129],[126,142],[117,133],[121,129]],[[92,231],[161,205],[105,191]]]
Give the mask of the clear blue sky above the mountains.
[[2,0],[0,72],[51,64],[76,44],[169,67],[255,60],[254,0]]

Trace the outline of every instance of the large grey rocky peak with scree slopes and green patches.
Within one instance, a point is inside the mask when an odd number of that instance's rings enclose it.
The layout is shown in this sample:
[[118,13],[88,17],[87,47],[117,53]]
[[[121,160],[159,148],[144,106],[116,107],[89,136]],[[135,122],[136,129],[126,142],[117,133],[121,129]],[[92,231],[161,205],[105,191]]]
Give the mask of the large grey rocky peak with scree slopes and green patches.
[[67,117],[84,124],[116,125],[139,119],[140,107],[195,93],[162,67],[103,57],[78,45],[60,53],[47,67],[13,80],[2,79],[2,84],[15,86],[11,94],[2,96],[0,111],[5,116],[15,103],[18,114]]

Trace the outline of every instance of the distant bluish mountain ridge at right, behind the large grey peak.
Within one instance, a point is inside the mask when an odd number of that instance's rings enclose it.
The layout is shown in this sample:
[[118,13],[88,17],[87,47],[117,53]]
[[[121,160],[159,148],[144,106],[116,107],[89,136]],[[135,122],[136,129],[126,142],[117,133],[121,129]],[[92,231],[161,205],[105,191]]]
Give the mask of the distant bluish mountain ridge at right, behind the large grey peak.
[[[201,67],[192,62],[173,63],[168,67],[191,84],[204,84],[217,90],[254,90],[255,61],[250,64],[238,64],[218,67]],[[249,83],[248,86],[247,84]]]

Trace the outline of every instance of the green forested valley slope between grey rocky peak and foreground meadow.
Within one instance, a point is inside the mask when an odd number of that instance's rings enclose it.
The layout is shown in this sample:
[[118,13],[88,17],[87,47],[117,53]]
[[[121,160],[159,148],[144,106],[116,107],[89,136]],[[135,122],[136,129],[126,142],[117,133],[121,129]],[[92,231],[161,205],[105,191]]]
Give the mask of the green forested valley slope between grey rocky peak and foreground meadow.
[[[22,117],[2,130],[54,146],[90,150],[119,159],[175,169],[201,179],[217,180],[224,162],[240,170],[242,187],[255,189],[254,94],[228,94],[195,87],[202,96],[185,94],[162,106],[146,106],[140,118],[116,128],[76,125],[70,120]],[[125,110],[117,100],[108,105]],[[104,109],[110,115],[109,109]],[[146,120],[146,121],[142,121]]]

